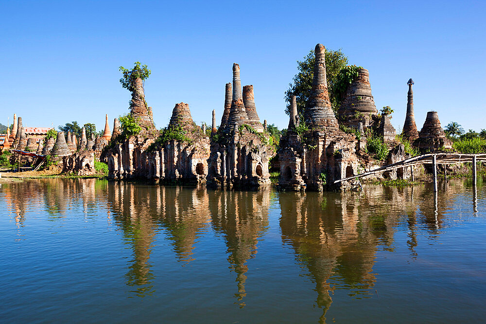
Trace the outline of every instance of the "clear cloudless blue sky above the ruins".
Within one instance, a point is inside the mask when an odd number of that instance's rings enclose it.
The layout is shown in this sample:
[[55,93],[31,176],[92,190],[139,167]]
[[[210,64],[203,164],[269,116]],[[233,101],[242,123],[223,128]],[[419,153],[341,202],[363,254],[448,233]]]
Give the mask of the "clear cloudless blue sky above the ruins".
[[221,120],[233,62],[254,85],[261,121],[287,127],[284,92],[315,44],[342,48],[369,70],[377,108],[486,128],[486,1],[0,1],[0,122],[77,120],[104,127],[128,112],[120,66],[147,64],[146,101],[158,128],[177,102],[194,121]]

